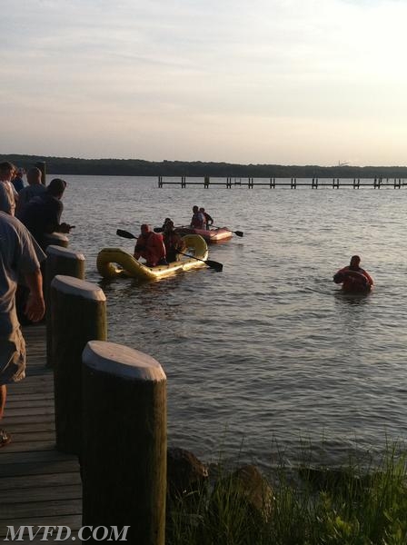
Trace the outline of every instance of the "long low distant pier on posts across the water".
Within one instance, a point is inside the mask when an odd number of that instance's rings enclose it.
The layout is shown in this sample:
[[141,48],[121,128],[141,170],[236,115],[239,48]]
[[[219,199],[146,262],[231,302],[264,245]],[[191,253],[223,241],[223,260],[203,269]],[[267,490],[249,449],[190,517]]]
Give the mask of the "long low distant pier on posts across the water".
[[254,187],[268,187],[270,189],[288,188],[297,189],[299,187],[306,187],[310,189],[340,189],[342,187],[351,187],[352,189],[382,189],[385,187],[391,187],[392,189],[402,189],[407,183],[402,178],[213,178],[204,176],[204,178],[186,177],[174,179],[174,177],[165,179],[164,176],[158,176],[158,187],[164,187],[164,185],[178,185],[182,188],[187,185],[202,185],[204,188],[209,189],[213,186],[221,186],[226,189],[232,189],[235,186],[246,186],[249,189]]

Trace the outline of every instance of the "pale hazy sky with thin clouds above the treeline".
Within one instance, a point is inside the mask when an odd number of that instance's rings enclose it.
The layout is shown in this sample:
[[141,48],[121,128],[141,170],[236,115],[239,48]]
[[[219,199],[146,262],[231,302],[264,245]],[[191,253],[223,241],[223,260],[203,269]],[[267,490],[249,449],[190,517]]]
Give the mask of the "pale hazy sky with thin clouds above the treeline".
[[406,0],[0,0],[0,153],[407,164]]

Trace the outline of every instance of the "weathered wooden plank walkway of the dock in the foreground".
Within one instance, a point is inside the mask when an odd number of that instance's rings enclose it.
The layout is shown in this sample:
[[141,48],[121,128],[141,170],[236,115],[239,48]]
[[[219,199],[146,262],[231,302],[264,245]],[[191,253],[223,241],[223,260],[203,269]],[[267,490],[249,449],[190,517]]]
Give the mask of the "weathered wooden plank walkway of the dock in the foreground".
[[[45,368],[45,325],[23,332],[27,376],[7,388],[2,422],[12,442],[0,449],[0,540],[7,526],[16,531],[22,525],[34,531],[39,525],[65,525],[75,536],[82,525],[82,485],[77,458],[55,451],[54,377]],[[31,543],[40,542],[42,531]],[[26,533],[24,540],[29,541]]]

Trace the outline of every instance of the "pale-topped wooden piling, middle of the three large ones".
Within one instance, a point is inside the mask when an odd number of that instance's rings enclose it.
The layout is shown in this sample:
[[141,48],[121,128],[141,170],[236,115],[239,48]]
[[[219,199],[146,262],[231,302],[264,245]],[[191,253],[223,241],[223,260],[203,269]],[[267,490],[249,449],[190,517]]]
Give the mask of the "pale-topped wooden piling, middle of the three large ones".
[[62,274],[51,282],[50,297],[56,448],[80,454],[82,352],[86,342],[106,340],[106,298],[96,284]]

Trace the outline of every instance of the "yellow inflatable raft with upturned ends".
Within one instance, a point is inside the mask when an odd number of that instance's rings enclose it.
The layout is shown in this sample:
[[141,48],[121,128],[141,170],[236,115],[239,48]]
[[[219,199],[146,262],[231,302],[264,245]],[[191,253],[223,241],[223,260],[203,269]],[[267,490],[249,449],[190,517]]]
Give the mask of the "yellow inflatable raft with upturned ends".
[[187,246],[184,253],[194,255],[198,259],[180,255],[179,261],[167,265],[146,267],[144,263],[138,262],[133,255],[120,248],[104,248],[97,255],[97,270],[104,278],[130,277],[157,280],[177,271],[189,271],[204,267],[204,262],[208,258],[208,246],[202,236],[187,234],[183,239]]

